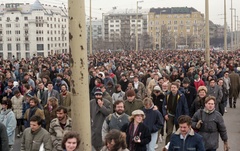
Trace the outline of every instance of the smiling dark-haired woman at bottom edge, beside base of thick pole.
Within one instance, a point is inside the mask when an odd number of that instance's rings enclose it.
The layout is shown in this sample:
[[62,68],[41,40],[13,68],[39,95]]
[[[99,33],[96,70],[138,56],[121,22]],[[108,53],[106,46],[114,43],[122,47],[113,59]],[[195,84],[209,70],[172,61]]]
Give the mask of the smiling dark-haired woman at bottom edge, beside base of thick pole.
[[77,132],[70,131],[66,133],[62,140],[63,151],[77,151],[81,143],[80,136]]

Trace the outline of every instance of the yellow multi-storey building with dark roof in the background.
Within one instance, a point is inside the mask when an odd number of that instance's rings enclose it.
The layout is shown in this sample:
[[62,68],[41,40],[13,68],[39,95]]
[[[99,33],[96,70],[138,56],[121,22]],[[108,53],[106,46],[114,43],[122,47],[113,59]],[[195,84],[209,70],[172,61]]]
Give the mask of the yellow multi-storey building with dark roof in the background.
[[204,15],[192,7],[151,8],[148,33],[154,49],[200,48],[203,45]]

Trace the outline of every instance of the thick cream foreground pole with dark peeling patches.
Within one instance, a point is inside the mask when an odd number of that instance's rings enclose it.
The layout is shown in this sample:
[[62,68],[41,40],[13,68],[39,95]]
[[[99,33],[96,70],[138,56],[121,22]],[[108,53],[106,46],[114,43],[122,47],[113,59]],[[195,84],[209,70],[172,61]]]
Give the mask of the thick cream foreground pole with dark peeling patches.
[[72,71],[72,127],[80,133],[79,150],[91,150],[88,60],[84,0],[68,0],[69,51]]

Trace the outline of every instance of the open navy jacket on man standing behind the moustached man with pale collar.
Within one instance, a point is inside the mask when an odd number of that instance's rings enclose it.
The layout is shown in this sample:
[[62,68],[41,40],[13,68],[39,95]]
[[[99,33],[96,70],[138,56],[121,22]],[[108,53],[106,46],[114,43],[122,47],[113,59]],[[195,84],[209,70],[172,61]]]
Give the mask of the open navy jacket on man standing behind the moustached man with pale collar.
[[[171,92],[168,93],[163,101],[163,116],[168,114],[167,109],[167,102],[169,99]],[[174,123],[177,125],[177,119],[181,115],[189,115],[188,105],[187,105],[187,99],[185,98],[184,94],[180,91],[177,92],[177,107],[176,107],[176,114],[174,116]]]

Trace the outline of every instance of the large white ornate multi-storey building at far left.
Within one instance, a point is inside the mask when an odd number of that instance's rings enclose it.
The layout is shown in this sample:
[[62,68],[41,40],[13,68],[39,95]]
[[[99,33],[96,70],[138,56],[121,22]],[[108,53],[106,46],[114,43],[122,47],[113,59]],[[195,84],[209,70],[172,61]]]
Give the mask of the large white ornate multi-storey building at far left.
[[17,59],[68,52],[65,8],[33,4],[0,5],[0,56]]

